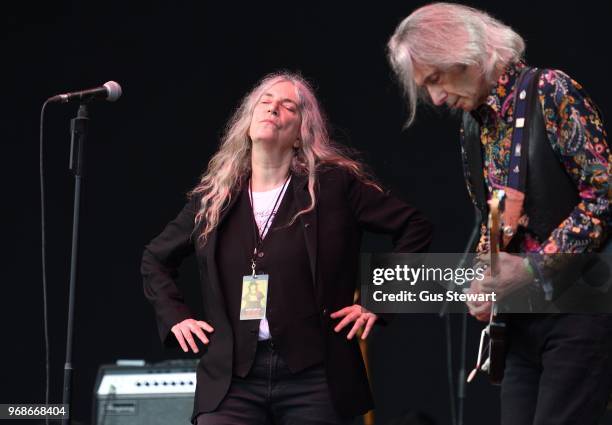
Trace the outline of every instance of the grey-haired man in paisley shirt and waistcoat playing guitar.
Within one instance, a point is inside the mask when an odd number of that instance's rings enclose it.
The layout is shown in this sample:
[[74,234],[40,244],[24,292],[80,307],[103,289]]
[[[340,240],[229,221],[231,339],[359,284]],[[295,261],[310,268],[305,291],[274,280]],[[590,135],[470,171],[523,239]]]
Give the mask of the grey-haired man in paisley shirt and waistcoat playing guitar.
[[[408,125],[421,101],[462,110],[472,201],[486,217],[487,202],[505,194],[499,239],[515,254],[500,253],[496,278],[474,281],[470,291],[498,299],[526,292],[529,301],[546,302],[561,290],[562,264],[549,254],[594,252],[606,242],[612,158],[601,115],[582,87],[561,71],[528,67],[524,50],[507,25],[450,3],[415,10],[388,43]],[[475,249],[485,253],[491,247],[482,229]],[[468,307],[489,319],[490,303]],[[598,423],[610,391],[611,329],[608,315],[507,315],[501,423]]]

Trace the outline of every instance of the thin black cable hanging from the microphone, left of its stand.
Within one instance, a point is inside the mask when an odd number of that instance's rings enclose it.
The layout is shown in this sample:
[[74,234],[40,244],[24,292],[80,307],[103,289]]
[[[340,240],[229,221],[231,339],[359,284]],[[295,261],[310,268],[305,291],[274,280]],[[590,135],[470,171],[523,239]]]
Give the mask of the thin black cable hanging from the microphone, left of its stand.
[[[49,321],[47,311],[47,256],[46,256],[46,228],[45,228],[45,178],[43,168],[43,123],[45,118],[45,109],[48,100],[43,103],[40,110],[40,152],[39,152],[39,167],[40,167],[40,230],[41,230],[41,261],[42,261],[42,283],[43,283],[43,328],[45,339],[45,405],[49,405],[49,386],[50,386],[50,362],[49,362]],[[45,425],[49,425],[49,416],[45,417]]]

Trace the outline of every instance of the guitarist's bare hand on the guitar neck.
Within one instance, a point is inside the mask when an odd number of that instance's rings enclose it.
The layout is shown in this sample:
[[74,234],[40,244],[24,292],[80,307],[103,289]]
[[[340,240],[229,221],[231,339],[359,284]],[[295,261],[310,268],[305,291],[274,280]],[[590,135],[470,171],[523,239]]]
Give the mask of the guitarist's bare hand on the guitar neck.
[[[487,254],[488,255],[488,254]],[[517,289],[533,282],[533,275],[525,266],[523,257],[500,252],[497,256],[497,274],[491,276],[488,268],[483,280],[473,280],[468,292],[495,293],[495,299],[500,301]],[[467,302],[470,314],[480,321],[489,320],[491,302]]]

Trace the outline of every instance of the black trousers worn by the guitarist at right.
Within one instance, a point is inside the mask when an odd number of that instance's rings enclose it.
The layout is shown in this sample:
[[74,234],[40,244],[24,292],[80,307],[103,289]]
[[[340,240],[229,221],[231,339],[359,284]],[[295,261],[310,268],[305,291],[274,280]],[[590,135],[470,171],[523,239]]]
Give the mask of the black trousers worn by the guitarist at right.
[[512,315],[502,425],[596,425],[612,382],[612,316]]

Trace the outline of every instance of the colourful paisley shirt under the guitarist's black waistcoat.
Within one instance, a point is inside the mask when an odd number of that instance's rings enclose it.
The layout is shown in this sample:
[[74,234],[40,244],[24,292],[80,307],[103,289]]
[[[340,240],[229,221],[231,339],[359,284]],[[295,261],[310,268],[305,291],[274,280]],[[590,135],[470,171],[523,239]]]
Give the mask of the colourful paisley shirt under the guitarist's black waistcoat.
[[[510,65],[499,77],[485,103],[475,111],[482,122],[483,166],[489,194],[507,183],[514,89],[524,67],[521,62]],[[610,220],[612,156],[606,132],[597,108],[582,86],[562,71],[545,69],[540,74],[537,92],[548,140],[576,184],[580,202],[546,240],[538,240],[534,234],[528,233],[521,250],[537,254],[590,252],[605,240]],[[461,142],[464,170],[467,170],[463,131]],[[468,191],[474,200],[469,183]],[[480,249],[488,249],[486,242],[480,244]]]

